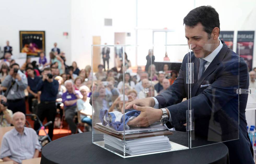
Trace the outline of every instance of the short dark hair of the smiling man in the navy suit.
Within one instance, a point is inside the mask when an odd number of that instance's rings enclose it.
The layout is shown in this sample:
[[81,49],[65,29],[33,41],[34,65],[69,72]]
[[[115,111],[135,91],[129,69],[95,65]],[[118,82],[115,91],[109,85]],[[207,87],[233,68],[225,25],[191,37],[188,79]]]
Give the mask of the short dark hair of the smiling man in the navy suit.
[[200,6],[191,11],[183,19],[183,25],[190,27],[196,26],[201,23],[204,27],[204,31],[208,33],[208,38],[211,38],[211,33],[213,28],[218,27],[219,24],[219,14],[211,6]]

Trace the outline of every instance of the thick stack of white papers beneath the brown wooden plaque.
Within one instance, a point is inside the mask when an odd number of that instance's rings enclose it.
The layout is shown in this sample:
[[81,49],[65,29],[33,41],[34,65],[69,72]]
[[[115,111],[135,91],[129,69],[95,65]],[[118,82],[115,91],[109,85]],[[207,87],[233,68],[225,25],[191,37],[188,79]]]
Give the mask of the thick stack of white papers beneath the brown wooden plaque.
[[171,150],[171,143],[166,136],[154,136],[138,139],[121,140],[108,134],[104,134],[105,144],[124,151],[130,155],[152,153],[156,151]]

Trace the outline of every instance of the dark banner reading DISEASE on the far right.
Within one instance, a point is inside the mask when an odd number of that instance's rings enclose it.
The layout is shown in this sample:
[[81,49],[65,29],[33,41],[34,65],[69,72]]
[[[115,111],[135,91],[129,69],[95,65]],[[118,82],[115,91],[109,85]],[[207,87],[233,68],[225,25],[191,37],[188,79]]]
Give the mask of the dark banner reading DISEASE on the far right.
[[[244,58],[249,69],[252,70],[254,31],[238,31],[237,43],[240,43],[240,56]],[[236,52],[238,52],[238,47]]]

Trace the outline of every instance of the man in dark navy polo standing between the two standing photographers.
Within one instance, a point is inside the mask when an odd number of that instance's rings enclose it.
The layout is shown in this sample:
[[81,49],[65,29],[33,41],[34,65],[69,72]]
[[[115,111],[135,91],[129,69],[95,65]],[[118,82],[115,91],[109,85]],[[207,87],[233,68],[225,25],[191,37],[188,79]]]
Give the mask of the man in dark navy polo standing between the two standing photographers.
[[26,72],[28,75],[27,77],[28,106],[29,106],[29,111],[32,112],[32,99],[37,98],[37,84],[39,83],[40,78],[35,76],[33,68],[30,68],[30,67],[26,68]]

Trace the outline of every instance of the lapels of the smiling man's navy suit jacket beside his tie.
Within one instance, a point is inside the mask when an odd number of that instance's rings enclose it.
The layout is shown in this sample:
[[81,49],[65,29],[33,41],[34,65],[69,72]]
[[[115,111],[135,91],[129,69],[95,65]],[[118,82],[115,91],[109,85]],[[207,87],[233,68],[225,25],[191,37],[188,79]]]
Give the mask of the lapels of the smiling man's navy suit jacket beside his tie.
[[[192,93],[191,93],[191,97],[194,97],[196,95],[196,93],[197,93],[198,89],[200,88],[203,80],[205,80],[205,78],[208,77],[218,67],[219,63],[223,60],[227,50],[228,50],[228,47],[225,44],[223,44],[222,49],[219,51],[219,53],[216,55],[216,57],[213,59],[213,61],[210,63],[210,65],[207,67],[205,72],[203,72],[201,78],[198,81],[196,81],[194,87],[191,88],[191,89],[193,89]],[[199,61],[199,59],[198,59],[198,61]],[[196,79],[198,77],[199,64],[197,64],[197,67],[198,68],[197,68]],[[194,74],[194,76],[195,76],[195,74]],[[194,77],[194,79],[195,79],[195,77]]]

